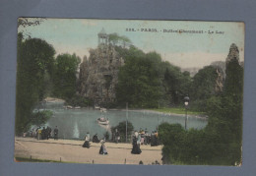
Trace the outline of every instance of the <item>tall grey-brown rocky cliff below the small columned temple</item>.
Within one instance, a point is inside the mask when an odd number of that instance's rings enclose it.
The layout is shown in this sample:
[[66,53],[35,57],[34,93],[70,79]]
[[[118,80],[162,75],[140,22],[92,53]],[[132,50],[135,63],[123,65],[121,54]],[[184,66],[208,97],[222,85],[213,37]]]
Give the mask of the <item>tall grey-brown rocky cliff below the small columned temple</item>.
[[90,50],[89,58],[80,65],[79,94],[102,105],[115,101],[118,71],[124,64],[111,44],[99,44]]

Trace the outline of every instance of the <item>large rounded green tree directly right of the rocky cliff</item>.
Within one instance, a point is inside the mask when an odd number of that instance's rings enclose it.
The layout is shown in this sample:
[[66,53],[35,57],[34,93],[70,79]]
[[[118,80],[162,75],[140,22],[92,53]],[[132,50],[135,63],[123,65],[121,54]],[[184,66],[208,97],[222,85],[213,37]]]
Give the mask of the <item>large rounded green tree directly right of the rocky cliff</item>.
[[[155,58],[156,57],[156,58]],[[117,100],[133,107],[157,107],[161,95],[157,53],[126,57],[118,73]],[[155,59],[153,59],[155,58]]]

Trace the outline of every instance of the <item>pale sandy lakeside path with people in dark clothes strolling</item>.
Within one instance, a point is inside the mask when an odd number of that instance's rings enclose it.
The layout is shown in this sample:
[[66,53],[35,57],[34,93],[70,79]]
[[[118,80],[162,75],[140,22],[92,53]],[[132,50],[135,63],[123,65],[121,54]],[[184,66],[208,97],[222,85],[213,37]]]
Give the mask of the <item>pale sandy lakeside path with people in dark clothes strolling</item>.
[[32,138],[15,138],[15,157],[33,159],[60,160],[64,162],[95,164],[152,164],[161,163],[161,147],[141,146],[141,154],[131,154],[131,144],[105,143],[107,155],[98,154],[100,144],[91,142],[90,148],[82,147],[84,141],[75,140],[41,140]]

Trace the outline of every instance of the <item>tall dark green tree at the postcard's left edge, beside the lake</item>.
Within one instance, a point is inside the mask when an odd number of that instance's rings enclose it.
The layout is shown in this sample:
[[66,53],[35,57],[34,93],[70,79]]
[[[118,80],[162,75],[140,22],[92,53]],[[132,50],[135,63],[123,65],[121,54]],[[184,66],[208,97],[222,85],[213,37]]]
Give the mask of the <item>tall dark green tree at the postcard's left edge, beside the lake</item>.
[[39,38],[23,41],[18,34],[17,93],[16,93],[16,134],[30,128],[32,109],[43,99],[45,74],[52,73],[54,48]]

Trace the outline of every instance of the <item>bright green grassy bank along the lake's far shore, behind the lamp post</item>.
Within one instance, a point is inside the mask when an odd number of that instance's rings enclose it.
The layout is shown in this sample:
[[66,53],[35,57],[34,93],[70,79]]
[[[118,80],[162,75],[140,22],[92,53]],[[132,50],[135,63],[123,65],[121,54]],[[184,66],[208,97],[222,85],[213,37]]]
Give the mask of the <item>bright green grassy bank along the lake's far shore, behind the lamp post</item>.
[[[185,108],[182,107],[161,107],[161,108],[152,108],[150,110],[162,112],[162,113],[171,113],[171,114],[186,114]],[[206,115],[205,112],[187,110],[188,115]]]

